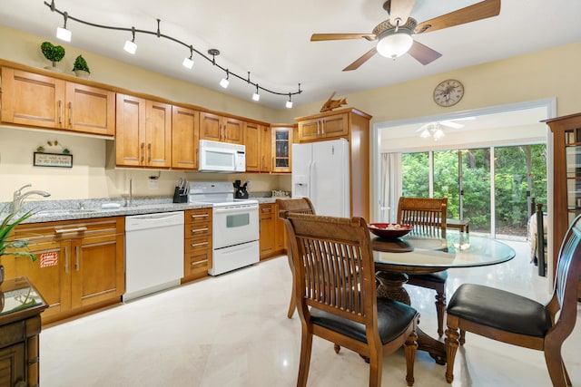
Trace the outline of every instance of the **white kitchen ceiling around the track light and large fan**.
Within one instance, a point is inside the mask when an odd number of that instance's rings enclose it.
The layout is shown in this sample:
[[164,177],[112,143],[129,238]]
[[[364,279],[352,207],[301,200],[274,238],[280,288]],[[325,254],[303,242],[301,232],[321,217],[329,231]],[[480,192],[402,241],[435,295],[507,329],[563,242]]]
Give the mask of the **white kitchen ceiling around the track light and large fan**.
[[[417,0],[411,16],[419,22],[447,14],[478,0]],[[37,34],[54,44],[63,16],[43,0],[2,0],[0,24]],[[216,48],[216,62],[275,92],[303,91],[295,104],[326,100],[331,92],[347,96],[372,88],[487,63],[522,53],[569,44],[581,38],[581,1],[503,0],[500,15],[415,35],[422,44],[442,53],[426,66],[409,55],[393,61],[375,55],[359,70],[341,70],[373,47],[364,39],[310,42],[314,33],[370,33],[388,19],[383,0],[55,0],[56,8],[95,24],[147,31],[157,29],[201,53]],[[133,63],[204,87],[250,99],[254,88],[231,75],[224,91],[224,72],[194,53],[192,70],[182,67],[190,50],[154,35],[136,34],[135,55],[123,51],[131,33],[85,26],[69,19],[71,45]],[[0,37],[1,39],[1,37]],[[90,63],[90,57],[86,58]],[[93,72],[99,71],[92,69]],[[288,96],[261,92],[261,103],[284,109]]]

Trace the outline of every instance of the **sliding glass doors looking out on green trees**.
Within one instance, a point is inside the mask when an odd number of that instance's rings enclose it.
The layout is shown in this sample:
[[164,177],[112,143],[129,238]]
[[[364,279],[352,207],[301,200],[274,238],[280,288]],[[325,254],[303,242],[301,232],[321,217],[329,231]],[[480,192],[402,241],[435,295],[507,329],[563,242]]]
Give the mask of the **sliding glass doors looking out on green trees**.
[[526,237],[530,195],[547,202],[546,150],[535,144],[403,153],[402,195],[448,198],[448,218],[469,219],[470,232]]

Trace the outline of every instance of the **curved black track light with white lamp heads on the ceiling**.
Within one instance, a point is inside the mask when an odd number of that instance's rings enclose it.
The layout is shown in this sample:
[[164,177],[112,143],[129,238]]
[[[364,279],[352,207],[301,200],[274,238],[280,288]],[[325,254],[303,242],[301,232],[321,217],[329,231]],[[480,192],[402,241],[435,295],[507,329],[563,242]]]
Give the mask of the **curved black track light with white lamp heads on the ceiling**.
[[[56,6],[54,5],[54,0],[51,0],[50,3],[47,3],[46,1],[44,1],[44,5],[47,5],[51,9],[52,12],[56,12],[57,14],[63,15],[64,28],[61,28],[61,27],[57,28],[57,37],[59,39],[65,40],[67,42],[71,41],[71,32],[66,29],[66,22],[68,19],[71,19],[74,22],[85,24],[85,25],[88,25],[91,27],[97,27],[97,28],[103,28],[103,29],[115,30],[115,31],[125,31],[125,32],[131,31],[132,40],[131,41],[127,40],[125,42],[125,45],[123,46],[123,50],[125,50],[127,53],[132,53],[132,54],[134,54],[137,51],[137,44],[135,44],[135,33],[151,34],[151,35],[157,36],[158,38],[164,38],[166,40],[170,40],[170,41],[177,43],[177,44],[182,44],[183,46],[189,48],[190,49],[190,57],[183,59],[182,65],[184,67],[186,67],[188,69],[192,69],[192,67],[193,67],[192,56],[193,56],[193,53],[195,52],[195,53],[199,54],[200,56],[202,56],[202,58],[204,58],[208,62],[212,63],[213,66],[216,66],[219,69],[221,69],[224,73],[226,73],[226,77],[222,78],[222,81],[220,82],[220,85],[224,89],[227,88],[230,84],[230,75],[232,75],[234,78],[238,78],[239,80],[247,82],[247,83],[251,84],[252,86],[256,87],[256,92],[254,92],[254,94],[252,95],[252,100],[254,100],[256,102],[260,101],[260,99],[261,99],[260,91],[270,92],[271,94],[276,94],[276,95],[284,95],[284,96],[288,95],[289,101],[286,102],[286,107],[291,108],[292,107],[291,96],[296,95],[296,94],[300,94],[302,92],[302,90],[300,90],[300,83],[299,83],[299,89],[296,92],[275,92],[275,91],[260,87],[258,85],[258,83],[251,82],[250,72],[248,72],[248,78],[241,77],[241,75],[238,75],[237,73],[231,73],[228,69],[226,69],[226,68],[222,67],[220,64],[216,63],[216,56],[220,54],[220,51],[218,51],[216,49],[208,50],[208,54],[211,55],[211,57],[210,57],[210,56],[207,56],[207,55],[201,53],[200,51],[196,50],[195,48],[193,48],[193,46],[191,44],[185,44],[179,39],[176,39],[176,38],[169,36],[169,35],[166,35],[166,34],[162,34],[162,31],[160,30],[160,22],[161,22],[160,19],[156,19],[157,20],[157,29],[155,31],[148,31],[148,30],[142,30],[142,29],[135,29],[135,27],[131,27],[131,28],[116,27],[116,26],[105,25],[105,24],[97,24],[94,22],[87,22],[87,21],[81,20],[79,18],[68,15],[68,13],[66,11],[61,11],[61,10],[57,9]],[[61,30],[63,30],[63,32],[61,32]]]

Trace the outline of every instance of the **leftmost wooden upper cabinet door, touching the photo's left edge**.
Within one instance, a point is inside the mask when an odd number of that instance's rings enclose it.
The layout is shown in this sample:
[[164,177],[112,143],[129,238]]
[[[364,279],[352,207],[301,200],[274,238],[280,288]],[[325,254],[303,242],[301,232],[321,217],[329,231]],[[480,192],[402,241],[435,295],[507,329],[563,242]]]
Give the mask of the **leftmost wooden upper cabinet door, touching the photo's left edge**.
[[64,81],[2,68],[0,119],[42,128],[64,127]]

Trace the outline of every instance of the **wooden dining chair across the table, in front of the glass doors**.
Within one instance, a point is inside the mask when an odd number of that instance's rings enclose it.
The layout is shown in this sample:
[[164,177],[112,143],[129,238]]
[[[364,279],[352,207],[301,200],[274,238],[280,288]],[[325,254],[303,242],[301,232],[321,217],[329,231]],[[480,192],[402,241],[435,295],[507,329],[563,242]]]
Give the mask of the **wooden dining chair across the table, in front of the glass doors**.
[[[400,197],[398,223],[412,225],[413,233],[427,236],[446,237],[448,198],[407,198]],[[444,314],[446,313],[446,281],[448,271],[409,275],[408,284],[426,287],[436,291],[436,313],[438,314],[438,335],[444,334]]]

